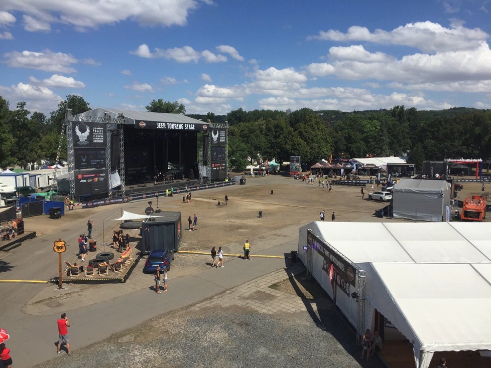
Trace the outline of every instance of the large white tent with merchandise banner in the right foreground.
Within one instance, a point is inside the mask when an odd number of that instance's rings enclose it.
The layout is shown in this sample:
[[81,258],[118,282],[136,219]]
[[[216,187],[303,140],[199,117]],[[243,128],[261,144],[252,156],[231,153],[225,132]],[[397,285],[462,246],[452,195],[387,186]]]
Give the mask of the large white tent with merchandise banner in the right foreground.
[[[377,309],[412,342],[416,367],[435,351],[491,350],[491,223],[313,222],[299,231],[306,265],[307,229],[365,272],[365,328]],[[311,264],[332,297],[322,256]],[[356,326],[355,299],[337,292],[336,305]]]

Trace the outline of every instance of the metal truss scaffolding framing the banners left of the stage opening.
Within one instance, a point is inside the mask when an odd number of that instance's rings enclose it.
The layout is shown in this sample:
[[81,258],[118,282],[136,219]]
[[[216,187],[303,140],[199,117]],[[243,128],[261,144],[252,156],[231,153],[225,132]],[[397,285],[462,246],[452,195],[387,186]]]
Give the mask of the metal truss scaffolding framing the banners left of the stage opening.
[[[65,112],[65,127],[67,139],[67,162],[68,162],[68,177],[70,183],[70,197],[75,197],[75,151],[73,148],[73,122],[90,122],[106,124],[106,168],[110,175],[111,167],[111,140],[112,133],[119,136],[119,177],[121,180],[120,194],[126,191],[125,183],[125,140],[124,140],[124,125],[125,117],[119,114],[116,118],[110,117],[109,114],[104,116],[85,116],[73,115],[72,109],[67,109]],[[109,183],[109,180],[108,180]],[[108,188],[109,190],[109,188]]]

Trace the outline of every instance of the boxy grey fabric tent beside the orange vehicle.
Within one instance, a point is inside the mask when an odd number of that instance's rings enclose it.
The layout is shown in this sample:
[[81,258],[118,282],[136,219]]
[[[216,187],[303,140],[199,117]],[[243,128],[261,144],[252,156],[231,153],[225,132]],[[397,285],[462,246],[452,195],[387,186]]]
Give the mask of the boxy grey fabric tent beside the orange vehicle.
[[445,180],[401,179],[394,191],[394,218],[439,222],[450,206],[450,183]]

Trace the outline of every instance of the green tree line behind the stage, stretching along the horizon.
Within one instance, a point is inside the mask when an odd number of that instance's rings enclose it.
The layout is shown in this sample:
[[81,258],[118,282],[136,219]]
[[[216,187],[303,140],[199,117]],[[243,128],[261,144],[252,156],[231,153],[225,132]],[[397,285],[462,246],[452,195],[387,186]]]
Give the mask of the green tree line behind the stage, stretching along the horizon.
[[[0,97],[0,167],[20,165],[41,159],[56,159],[60,134],[67,108],[73,114],[90,110],[83,97],[68,95],[49,117],[31,114],[25,102],[11,110]],[[163,99],[146,106],[151,112],[185,113],[185,106]],[[274,110],[244,111],[227,115],[188,114],[188,116],[229,123],[229,164],[242,170],[248,158],[289,160],[301,156],[312,164],[321,158],[354,158],[408,155],[421,167],[424,160],[443,158],[489,158],[491,156],[491,111],[453,108],[441,111],[417,111],[404,106],[389,110],[342,112],[293,112]],[[66,159],[63,143],[61,160]]]

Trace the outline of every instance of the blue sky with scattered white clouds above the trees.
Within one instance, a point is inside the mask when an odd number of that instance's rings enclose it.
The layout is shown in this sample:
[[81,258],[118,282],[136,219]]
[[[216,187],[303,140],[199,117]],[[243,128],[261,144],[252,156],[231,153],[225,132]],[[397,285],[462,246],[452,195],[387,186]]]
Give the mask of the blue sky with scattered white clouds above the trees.
[[2,0],[11,109],[491,108],[491,0]]

